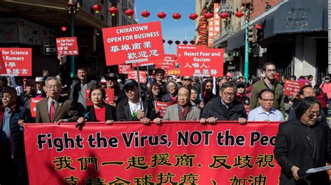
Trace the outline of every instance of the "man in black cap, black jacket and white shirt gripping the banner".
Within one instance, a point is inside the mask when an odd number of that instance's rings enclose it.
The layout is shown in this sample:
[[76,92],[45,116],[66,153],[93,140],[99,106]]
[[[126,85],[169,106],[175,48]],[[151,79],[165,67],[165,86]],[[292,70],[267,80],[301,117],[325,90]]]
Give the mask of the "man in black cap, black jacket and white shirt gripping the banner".
[[124,83],[126,99],[117,106],[118,121],[140,121],[148,124],[150,120],[159,121],[152,102],[140,102],[138,83],[134,79],[128,79]]

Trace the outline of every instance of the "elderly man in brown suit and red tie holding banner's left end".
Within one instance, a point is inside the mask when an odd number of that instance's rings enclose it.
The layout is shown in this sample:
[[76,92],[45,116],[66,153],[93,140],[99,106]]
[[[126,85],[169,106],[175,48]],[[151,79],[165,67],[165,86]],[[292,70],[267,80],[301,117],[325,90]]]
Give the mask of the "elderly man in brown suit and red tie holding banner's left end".
[[45,81],[48,97],[36,105],[36,122],[75,122],[78,120],[78,109],[75,102],[60,96],[62,84],[56,77]]

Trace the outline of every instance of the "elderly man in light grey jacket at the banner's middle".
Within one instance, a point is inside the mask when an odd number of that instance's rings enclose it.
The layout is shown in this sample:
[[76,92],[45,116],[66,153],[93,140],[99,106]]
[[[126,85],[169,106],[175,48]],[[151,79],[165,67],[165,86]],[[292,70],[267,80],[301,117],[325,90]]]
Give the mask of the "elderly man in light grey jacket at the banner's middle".
[[182,86],[178,90],[178,104],[168,106],[163,121],[200,120],[200,109],[191,106],[191,90]]

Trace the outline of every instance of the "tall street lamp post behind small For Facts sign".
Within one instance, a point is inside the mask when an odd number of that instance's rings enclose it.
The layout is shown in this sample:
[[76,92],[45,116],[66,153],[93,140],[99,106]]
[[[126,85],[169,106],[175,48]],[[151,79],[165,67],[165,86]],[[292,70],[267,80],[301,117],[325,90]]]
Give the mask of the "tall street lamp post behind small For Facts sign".
[[[69,0],[66,5],[66,13],[68,13],[70,17],[70,26],[71,26],[71,37],[73,37],[75,34],[74,32],[74,24],[75,24],[75,15],[78,12],[79,5],[77,3],[77,0]],[[71,78],[75,75],[75,58],[71,56]]]

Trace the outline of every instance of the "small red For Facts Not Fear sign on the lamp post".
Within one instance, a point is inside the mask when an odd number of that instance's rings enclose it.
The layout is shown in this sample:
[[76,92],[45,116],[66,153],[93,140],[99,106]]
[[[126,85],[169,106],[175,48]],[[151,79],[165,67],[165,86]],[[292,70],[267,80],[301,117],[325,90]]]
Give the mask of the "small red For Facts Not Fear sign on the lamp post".
[[78,55],[77,38],[57,38],[57,54],[64,56]]

